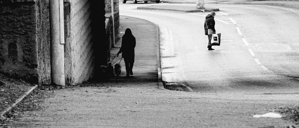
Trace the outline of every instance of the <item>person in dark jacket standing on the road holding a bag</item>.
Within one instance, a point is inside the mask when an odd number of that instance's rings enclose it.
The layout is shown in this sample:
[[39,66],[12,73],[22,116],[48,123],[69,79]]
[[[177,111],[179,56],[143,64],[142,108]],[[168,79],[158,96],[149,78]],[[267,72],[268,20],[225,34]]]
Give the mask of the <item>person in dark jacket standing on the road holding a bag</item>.
[[211,39],[212,39],[212,34],[216,34],[215,30],[215,17],[216,13],[214,11],[211,11],[210,14],[208,14],[205,17],[205,22],[204,22],[204,30],[205,30],[205,35],[208,35],[208,50],[214,50],[212,49],[212,44],[211,44]]

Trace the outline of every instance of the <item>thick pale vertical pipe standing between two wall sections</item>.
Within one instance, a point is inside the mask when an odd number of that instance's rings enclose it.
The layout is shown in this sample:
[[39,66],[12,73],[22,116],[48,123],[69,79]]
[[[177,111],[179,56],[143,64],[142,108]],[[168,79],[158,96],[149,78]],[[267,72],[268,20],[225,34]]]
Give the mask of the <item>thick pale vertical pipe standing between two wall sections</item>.
[[65,86],[63,0],[49,0],[52,83]]

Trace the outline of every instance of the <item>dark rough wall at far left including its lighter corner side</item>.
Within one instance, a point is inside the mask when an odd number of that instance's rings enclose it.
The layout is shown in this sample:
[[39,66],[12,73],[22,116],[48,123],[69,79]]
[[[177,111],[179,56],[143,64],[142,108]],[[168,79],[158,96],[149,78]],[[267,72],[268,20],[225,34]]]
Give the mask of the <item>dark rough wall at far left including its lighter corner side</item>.
[[49,13],[45,9],[47,2],[0,0],[2,73],[32,83],[50,82]]

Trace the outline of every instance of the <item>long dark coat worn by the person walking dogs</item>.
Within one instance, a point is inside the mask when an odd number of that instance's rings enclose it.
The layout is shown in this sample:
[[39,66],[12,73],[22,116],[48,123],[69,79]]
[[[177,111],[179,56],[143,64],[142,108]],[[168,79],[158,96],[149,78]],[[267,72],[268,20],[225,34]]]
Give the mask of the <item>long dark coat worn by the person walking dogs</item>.
[[130,62],[134,62],[135,59],[135,47],[136,47],[136,39],[132,35],[131,29],[126,29],[125,35],[122,39],[122,46],[120,49],[120,53],[122,57]]

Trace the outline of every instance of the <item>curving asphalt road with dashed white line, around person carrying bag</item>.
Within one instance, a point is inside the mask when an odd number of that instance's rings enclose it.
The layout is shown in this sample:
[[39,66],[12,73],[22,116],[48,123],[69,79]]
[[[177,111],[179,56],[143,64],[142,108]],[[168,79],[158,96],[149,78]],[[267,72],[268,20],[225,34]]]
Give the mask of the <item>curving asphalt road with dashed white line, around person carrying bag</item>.
[[208,51],[203,29],[208,12],[136,9],[144,5],[157,3],[120,3],[120,15],[146,19],[159,26],[164,81],[183,83],[197,92],[298,92],[299,10],[206,4],[221,10],[215,17],[221,46]]

